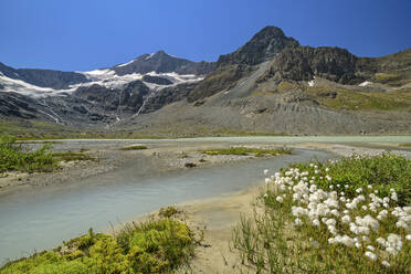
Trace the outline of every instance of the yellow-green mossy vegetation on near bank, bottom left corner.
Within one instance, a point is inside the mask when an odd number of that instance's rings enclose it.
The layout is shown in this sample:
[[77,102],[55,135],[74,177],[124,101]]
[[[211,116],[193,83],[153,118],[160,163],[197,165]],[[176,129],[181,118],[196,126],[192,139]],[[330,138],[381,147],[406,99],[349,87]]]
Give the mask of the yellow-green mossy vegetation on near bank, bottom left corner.
[[94,233],[63,242],[0,268],[0,274],[172,273],[193,254],[190,229],[168,218],[130,223],[115,235]]

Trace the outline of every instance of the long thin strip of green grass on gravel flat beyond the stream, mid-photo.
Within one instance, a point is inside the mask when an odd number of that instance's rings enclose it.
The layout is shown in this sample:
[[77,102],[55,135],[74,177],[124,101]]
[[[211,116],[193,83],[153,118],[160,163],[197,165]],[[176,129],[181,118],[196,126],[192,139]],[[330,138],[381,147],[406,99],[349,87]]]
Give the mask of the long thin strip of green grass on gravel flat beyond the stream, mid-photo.
[[263,148],[250,148],[250,147],[230,147],[230,148],[219,148],[219,149],[208,149],[201,150],[200,152],[205,155],[254,155],[255,157],[261,156],[277,156],[277,155],[289,155],[292,150],[288,148],[277,148],[277,149],[263,149]]

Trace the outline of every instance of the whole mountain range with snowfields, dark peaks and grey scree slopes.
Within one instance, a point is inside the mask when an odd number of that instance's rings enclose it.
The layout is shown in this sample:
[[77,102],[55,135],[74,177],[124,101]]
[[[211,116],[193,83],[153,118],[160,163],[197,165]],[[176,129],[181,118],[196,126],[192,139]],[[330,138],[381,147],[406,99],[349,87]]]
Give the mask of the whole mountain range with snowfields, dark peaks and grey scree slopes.
[[265,27],[217,62],[158,51],[89,72],[0,63],[0,126],[1,117],[122,136],[404,134],[411,131],[411,49],[360,57],[303,46]]

